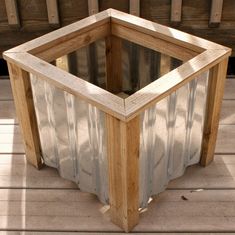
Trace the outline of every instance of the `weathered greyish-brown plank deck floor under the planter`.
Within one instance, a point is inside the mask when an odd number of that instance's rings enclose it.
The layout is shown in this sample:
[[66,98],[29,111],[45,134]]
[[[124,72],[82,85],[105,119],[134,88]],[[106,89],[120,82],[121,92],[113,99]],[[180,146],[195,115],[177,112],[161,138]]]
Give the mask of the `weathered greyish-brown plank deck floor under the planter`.
[[[26,164],[9,80],[0,80],[0,235],[52,232],[121,230],[94,195],[80,192],[55,169]],[[141,213],[133,232],[235,233],[235,79],[226,83],[214,162],[189,167],[173,180]]]

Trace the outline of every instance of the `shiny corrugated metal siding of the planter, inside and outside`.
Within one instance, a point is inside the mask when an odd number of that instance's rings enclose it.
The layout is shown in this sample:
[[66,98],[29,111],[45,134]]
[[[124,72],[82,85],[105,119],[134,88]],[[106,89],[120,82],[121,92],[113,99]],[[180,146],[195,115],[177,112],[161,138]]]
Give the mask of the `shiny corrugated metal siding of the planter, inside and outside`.
[[[161,55],[126,42],[123,45],[123,91],[131,94],[160,76]],[[92,52],[93,60],[90,50],[96,51]],[[75,55],[75,75],[104,86],[104,42],[80,49]],[[138,59],[133,59],[137,55]],[[171,69],[181,64],[173,62]],[[93,75],[91,67],[96,67]],[[141,207],[163,191],[169,180],[181,176],[188,165],[199,162],[207,77],[208,73],[200,75],[141,115]],[[108,203],[105,114],[33,75],[31,83],[45,163],[81,190]]]

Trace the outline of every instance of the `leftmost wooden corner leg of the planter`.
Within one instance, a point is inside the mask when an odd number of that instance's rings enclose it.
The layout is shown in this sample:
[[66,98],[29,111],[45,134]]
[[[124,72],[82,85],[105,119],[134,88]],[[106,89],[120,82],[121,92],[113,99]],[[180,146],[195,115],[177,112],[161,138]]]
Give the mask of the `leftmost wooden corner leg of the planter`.
[[42,166],[40,140],[29,74],[11,63],[8,63],[8,69],[26,157],[36,168],[40,168]]

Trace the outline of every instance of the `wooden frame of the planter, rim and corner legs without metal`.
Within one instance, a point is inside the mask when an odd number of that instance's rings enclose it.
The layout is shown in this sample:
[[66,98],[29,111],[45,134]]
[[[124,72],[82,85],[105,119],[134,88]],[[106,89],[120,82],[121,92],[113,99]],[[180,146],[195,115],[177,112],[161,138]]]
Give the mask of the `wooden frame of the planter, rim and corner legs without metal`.
[[[114,93],[118,92],[120,86],[117,69],[112,67],[113,61],[119,64],[121,60],[118,38],[173,56],[183,60],[184,64],[122,99],[48,63],[100,38],[106,38],[107,90]],[[27,94],[31,93],[28,73],[32,73],[106,113],[111,217],[125,231],[130,231],[139,218],[139,115],[197,75],[210,70],[201,157],[201,164],[207,165],[213,160],[227,58],[230,54],[231,50],[227,47],[113,9],[6,51],[4,58],[11,71],[13,93],[21,100],[16,101],[16,106],[28,160],[35,166],[40,165],[36,119],[31,116],[34,116],[32,102],[27,99]],[[117,78],[115,83],[113,77]],[[15,83],[17,79],[18,83]],[[29,119],[28,125],[25,125]],[[117,140],[112,141],[114,136]],[[131,143],[128,136],[132,136]]]

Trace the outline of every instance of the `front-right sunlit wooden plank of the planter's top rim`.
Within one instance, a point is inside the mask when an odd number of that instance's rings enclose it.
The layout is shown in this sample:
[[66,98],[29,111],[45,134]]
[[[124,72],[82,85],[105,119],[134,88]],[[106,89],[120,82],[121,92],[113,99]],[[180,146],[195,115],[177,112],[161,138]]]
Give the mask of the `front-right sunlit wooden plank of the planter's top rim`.
[[126,121],[228,57],[231,51],[207,50],[125,99]]

